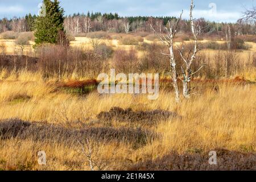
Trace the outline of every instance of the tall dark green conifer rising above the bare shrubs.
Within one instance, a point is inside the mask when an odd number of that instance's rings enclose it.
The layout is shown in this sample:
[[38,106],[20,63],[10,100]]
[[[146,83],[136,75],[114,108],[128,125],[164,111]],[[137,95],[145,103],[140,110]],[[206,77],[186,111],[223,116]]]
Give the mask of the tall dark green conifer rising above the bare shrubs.
[[[44,12],[43,12],[44,11]],[[61,44],[67,39],[64,31],[64,10],[57,0],[43,0],[43,16],[38,16],[35,22],[35,46],[43,43]]]

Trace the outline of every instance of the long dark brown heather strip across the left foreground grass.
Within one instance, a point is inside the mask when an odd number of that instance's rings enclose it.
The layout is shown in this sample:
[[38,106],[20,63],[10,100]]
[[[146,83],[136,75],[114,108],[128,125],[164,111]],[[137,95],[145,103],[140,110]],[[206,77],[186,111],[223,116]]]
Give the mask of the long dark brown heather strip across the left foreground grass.
[[32,139],[42,142],[76,143],[86,138],[101,142],[132,143],[135,148],[146,145],[158,135],[140,128],[90,127],[88,129],[67,129],[47,124],[24,122],[20,119],[8,119],[0,122],[2,139]]

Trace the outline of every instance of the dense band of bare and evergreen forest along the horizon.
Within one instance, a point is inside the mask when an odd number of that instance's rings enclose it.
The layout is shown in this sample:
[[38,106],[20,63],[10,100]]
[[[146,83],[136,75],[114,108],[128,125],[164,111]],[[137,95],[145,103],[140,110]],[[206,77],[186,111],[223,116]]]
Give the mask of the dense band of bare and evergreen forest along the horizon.
[[[0,32],[5,31],[33,31],[36,15],[28,14],[23,18],[3,18],[0,20]],[[107,31],[107,32],[149,32],[152,33],[150,24],[154,29],[161,33],[165,33],[165,26],[168,20],[175,22],[174,16],[129,16],[122,17],[117,13],[90,13],[73,14],[65,17],[64,27],[69,34],[77,35],[92,31]],[[209,35],[219,35],[225,32],[226,23],[209,22],[204,18],[196,20],[200,27],[204,27],[204,33]],[[232,32],[236,35],[255,35],[256,23],[242,22],[229,23],[232,27]],[[189,20],[183,19],[179,24],[179,32],[189,32]]]

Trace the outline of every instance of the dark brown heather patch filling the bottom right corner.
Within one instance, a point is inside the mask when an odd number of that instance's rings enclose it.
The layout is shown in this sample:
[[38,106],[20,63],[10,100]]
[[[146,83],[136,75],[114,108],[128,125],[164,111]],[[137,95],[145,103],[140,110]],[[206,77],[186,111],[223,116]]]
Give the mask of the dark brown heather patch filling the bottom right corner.
[[129,167],[132,171],[241,171],[256,170],[256,154],[216,149],[217,165],[209,165],[209,155],[183,154],[170,152],[170,154],[155,160],[148,160]]

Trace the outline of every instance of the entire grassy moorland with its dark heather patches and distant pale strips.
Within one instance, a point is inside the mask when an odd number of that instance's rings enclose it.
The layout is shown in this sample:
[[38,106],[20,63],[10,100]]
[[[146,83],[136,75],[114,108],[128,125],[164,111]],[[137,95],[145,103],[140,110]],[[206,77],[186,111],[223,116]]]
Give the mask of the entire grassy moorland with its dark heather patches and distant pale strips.
[[[12,54],[13,40],[1,41]],[[114,49],[131,47],[116,39],[101,41]],[[256,51],[256,44],[249,44],[249,50],[238,52],[240,61]],[[81,45],[92,48],[89,38],[71,42]],[[175,104],[171,84],[150,101],[147,95],[71,93],[57,77],[3,70],[0,169],[90,170],[89,160],[96,170],[255,169],[256,70],[236,76],[197,78],[193,84],[202,94]],[[42,150],[46,166],[38,164]],[[209,166],[209,151],[217,151],[217,166]]]

